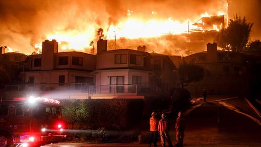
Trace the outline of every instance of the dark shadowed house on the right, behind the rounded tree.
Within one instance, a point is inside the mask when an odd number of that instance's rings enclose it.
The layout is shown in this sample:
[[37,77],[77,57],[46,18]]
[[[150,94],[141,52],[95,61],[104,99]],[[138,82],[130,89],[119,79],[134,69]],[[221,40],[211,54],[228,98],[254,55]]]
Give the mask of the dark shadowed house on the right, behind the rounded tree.
[[247,91],[245,55],[238,52],[217,51],[216,43],[208,43],[207,51],[183,58],[205,68],[202,81],[192,82],[186,88],[191,94],[243,94]]

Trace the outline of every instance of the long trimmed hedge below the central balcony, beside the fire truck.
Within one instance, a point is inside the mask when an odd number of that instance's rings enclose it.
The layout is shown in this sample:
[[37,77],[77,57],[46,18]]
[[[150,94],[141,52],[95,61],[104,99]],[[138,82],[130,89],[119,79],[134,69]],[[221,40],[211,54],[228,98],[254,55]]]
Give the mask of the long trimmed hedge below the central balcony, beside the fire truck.
[[122,130],[138,125],[144,101],[130,99],[61,100],[62,115],[68,128]]

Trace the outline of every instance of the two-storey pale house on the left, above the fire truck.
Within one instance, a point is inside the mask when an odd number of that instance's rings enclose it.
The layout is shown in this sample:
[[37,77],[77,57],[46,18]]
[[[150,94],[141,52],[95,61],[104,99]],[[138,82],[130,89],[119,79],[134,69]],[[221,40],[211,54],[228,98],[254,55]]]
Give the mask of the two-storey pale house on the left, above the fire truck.
[[[87,99],[89,85],[94,84],[91,71],[96,56],[82,52],[58,52],[56,40],[42,42],[42,52],[25,61],[23,85],[8,85],[9,97],[31,94],[55,98]],[[13,93],[13,94],[12,94]]]

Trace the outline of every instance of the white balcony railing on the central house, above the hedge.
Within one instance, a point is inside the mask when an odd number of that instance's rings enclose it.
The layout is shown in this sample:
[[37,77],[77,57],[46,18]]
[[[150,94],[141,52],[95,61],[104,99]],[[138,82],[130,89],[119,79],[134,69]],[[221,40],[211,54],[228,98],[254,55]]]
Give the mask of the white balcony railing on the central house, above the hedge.
[[90,96],[110,96],[110,95],[137,95],[137,84],[130,85],[96,85],[89,87]]

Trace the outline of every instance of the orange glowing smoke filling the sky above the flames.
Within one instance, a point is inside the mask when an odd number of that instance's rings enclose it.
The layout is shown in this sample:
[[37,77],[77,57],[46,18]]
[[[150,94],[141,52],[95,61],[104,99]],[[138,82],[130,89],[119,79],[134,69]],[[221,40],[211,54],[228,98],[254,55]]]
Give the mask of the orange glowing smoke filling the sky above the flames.
[[[98,28],[106,31],[111,25],[116,26],[130,17],[144,21],[169,17],[179,21],[188,18],[196,21],[202,13],[216,14],[220,10],[225,10],[225,3],[225,0],[0,1],[0,46],[10,46],[14,51],[30,54],[35,51],[35,44],[52,39],[51,37],[65,42],[72,41],[74,42],[72,45],[78,47],[82,47],[79,42],[83,40],[86,42],[85,46],[89,46],[90,41],[97,40],[95,37]],[[249,20],[252,20],[252,17]],[[75,37],[72,39],[70,36]],[[157,42],[157,39],[153,41]],[[157,43],[160,46],[164,46],[162,44],[165,43],[173,45],[162,40]],[[165,46],[161,52],[171,52],[170,47]]]

